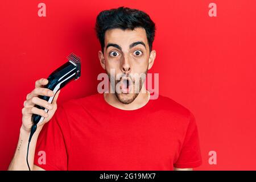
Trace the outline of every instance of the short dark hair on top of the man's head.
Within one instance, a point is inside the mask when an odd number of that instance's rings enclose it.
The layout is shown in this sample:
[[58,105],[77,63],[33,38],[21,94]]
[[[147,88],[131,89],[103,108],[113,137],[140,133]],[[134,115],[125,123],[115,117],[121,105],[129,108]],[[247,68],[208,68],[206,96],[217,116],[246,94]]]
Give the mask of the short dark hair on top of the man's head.
[[100,40],[102,52],[104,52],[105,32],[113,28],[121,28],[122,30],[134,30],[134,28],[142,27],[146,31],[148,45],[152,50],[152,43],[155,38],[155,23],[150,16],[143,11],[130,9],[129,7],[118,7],[118,9],[110,9],[101,11],[96,19],[96,34]]

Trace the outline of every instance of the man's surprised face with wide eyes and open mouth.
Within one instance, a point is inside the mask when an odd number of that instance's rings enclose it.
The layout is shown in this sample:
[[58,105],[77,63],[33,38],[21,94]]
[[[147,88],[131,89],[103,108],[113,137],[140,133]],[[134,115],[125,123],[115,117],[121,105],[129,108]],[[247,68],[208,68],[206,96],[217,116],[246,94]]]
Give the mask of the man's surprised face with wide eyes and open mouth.
[[[99,58],[109,79],[115,80],[115,85],[111,86],[118,100],[123,104],[133,102],[144,82],[142,77],[138,80],[138,76],[142,76],[143,73],[146,75],[150,64],[150,49],[144,28],[135,28],[133,31],[119,28],[107,30],[104,56],[100,51]],[[114,78],[110,74],[113,69]]]

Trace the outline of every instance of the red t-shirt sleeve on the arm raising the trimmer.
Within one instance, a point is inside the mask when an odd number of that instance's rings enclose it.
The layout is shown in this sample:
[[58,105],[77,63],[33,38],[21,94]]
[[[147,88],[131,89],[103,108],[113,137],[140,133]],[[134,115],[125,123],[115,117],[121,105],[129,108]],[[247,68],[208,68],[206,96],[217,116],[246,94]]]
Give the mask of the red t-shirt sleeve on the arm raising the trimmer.
[[36,166],[47,171],[67,170],[67,142],[61,128],[64,123],[67,123],[67,115],[60,106],[40,131],[34,158]]

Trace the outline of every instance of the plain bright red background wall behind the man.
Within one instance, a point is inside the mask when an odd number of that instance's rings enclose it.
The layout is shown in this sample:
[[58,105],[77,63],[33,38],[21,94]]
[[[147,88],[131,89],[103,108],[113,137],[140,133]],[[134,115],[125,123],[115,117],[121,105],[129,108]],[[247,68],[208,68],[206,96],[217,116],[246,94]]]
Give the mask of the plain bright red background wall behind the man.
[[[38,4],[46,3],[46,17]],[[217,17],[208,5],[217,4]],[[0,169],[13,157],[22,107],[35,81],[47,77],[74,52],[81,78],[62,89],[59,104],[97,92],[103,72],[94,33],[101,10],[140,9],[156,23],[151,73],[159,92],[195,114],[201,170],[256,169],[256,1],[1,1]],[[217,152],[217,164],[208,152]],[[25,160],[25,159],[24,159]]]

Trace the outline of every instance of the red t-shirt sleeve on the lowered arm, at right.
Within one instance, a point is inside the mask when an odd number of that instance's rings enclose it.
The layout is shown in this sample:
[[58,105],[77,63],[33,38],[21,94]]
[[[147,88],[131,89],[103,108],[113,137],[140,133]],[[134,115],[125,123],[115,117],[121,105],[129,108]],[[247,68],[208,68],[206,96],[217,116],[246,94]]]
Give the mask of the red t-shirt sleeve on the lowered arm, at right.
[[190,119],[185,134],[179,158],[174,164],[176,168],[194,168],[202,164],[199,134],[195,117],[190,113]]

